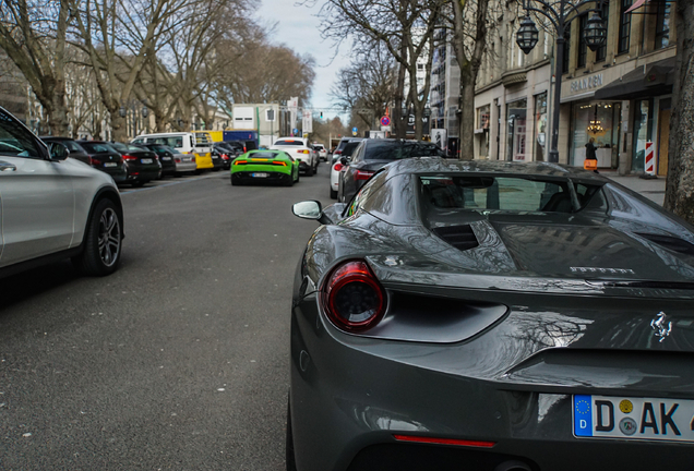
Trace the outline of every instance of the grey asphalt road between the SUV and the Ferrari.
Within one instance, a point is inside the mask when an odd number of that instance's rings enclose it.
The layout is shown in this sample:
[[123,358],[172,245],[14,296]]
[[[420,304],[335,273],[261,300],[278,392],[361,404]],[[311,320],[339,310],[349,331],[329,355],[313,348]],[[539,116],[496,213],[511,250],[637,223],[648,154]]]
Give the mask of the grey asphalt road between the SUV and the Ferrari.
[[294,188],[228,172],[123,189],[120,269],[3,279],[0,469],[284,469],[289,307],[328,171]]

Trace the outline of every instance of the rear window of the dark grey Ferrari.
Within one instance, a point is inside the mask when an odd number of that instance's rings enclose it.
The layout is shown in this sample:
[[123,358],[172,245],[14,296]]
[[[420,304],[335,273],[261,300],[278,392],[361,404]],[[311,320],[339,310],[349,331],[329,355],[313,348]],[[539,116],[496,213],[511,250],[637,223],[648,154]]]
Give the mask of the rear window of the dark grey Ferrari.
[[520,177],[420,177],[424,204],[445,209],[572,213],[569,183]]

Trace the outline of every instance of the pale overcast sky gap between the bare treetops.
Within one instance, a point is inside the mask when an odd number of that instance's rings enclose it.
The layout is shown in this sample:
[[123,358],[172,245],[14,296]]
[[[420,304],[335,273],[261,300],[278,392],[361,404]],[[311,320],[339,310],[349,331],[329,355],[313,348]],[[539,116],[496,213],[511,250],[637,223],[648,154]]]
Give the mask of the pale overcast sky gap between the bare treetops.
[[330,40],[321,39],[321,20],[316,14],[322,1],[318,0],[315,3],[315,7],[308,8],[294,0],[262,0],[256,16],[266,26],[277,23],[271,36],[273,43],[285,44],[300,55],[313,56],[315,80],[311,101],[314,109],[324,108],[323,117],[326,118],[338,114],[335,110],[327,109],[331,106],[330,89],[337,71],[349,64],[349,51],[343,46],[331,63],[335,51]]

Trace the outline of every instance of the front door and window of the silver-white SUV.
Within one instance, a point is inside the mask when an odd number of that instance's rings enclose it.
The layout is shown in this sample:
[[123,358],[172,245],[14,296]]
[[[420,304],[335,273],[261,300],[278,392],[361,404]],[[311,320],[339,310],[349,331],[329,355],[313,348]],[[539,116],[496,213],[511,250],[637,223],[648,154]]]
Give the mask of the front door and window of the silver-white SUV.
[[72,243],[74,192],[68,165],[46,160],[46,154],[24,126],[0,111],[0,266],[65,250]]

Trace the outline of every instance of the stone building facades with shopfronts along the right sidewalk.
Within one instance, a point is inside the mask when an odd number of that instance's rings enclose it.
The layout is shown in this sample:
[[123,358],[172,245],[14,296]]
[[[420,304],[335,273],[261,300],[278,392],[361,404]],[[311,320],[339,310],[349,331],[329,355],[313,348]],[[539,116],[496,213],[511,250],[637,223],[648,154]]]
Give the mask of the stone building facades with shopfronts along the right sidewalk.
[[[562,63],[560,162],[583,166],[585,146],[593,138],[599,168],[643,173],[646,152],[651,150],[657,173],[667,172],[677,53],[670,10],[670,2],[659,0],[603,3],[607,41],[596,51],[584,40],[588,8],[571,23]],[[515,41],[522,20],[516,11],[522,9],[505,9],[488,36],[474,105],[478,159],[541,161],[548,157],[555,40],[549,23],[535,19],[538,44],[526,56]],[[457,100],[455,78],[448,78],[447,70],[457,68],[450,59],[444,63],[446,75],[440,76],[445,78],[432,82],[440,92],[432,95],[432,104],[438,125],[455,133],[457,125],[451,126],[445,118],[447,104]]]

